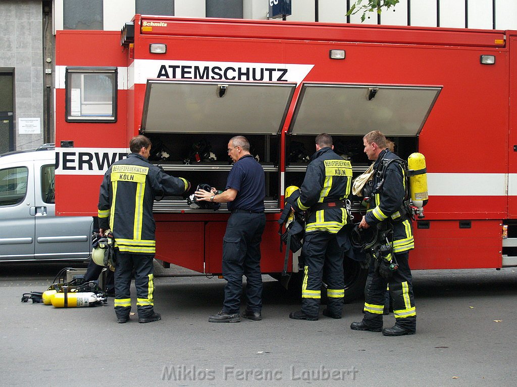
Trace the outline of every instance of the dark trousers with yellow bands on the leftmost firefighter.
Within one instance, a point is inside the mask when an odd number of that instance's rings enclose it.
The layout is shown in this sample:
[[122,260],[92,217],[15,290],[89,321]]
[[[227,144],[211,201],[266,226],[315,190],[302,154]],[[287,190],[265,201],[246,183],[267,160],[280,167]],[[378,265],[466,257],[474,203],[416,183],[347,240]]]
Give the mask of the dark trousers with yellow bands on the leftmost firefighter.
[[154,254],[120,253],[115,250],[115,313],[118,318],[128,317],[131,311],[131,279],[134,269],[136,287],[136,308],[138,317],[149,317],[154,313]]

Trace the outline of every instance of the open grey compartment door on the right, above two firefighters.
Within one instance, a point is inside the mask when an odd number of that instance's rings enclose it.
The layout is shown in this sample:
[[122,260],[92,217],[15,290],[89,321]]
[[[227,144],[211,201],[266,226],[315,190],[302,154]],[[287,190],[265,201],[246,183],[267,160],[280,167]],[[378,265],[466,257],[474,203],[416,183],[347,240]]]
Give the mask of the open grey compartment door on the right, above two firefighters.
[[303,83],[289,133],[416,136],[434,106],[440,86]]

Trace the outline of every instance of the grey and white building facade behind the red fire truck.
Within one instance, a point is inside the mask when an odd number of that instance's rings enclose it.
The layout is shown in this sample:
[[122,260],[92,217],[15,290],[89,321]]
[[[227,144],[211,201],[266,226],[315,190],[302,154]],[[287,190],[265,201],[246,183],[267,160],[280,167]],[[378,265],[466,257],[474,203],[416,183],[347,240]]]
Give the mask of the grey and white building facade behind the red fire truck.
[[[60,29],[120,30],[135,13],[268,19],[276,0],[0,1],[0,153],[54,140],[54,35]],[[366,0],[365,0],[366,2]],[[360,23],[353,0],[291,0],[286,20]],[[275,19],[281,23],[281,19]],[[515,0],[400,0],[363,24],[517,29]]]

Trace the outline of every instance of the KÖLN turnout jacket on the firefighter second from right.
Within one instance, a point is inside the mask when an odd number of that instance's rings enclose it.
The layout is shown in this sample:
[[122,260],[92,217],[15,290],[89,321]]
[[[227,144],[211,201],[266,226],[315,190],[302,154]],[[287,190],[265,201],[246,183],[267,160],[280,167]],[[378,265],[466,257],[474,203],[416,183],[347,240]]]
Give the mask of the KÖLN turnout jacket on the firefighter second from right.
[[343,200],[352,186],[352,165],[330,147],[314,153],[307,166],[300,196],[293,203],[295,210],[307,211],[306,233],[326,231],[338,233],[347,222]]

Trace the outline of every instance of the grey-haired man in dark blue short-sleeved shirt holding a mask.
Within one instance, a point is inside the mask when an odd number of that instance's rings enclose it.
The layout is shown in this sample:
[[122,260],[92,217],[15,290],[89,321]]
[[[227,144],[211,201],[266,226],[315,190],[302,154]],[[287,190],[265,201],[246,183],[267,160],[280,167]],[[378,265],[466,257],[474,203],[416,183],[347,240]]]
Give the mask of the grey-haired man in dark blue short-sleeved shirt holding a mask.
[[264,169],[250,154],[250,143],[244,136],[228,142],[228,154],[234,165],[226,181],[226,189],[217,193],[200,189],[197,200],[228,203],[232,213],[223,237],[222,274],[223,309],[208,317],[209,322],[239,322],[242,276],[246,276],[246,310],[242,317],[262,319],[262,273],[260,244],[266,226],[264,198],[266,183]]

